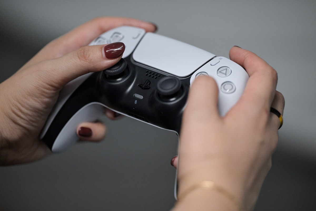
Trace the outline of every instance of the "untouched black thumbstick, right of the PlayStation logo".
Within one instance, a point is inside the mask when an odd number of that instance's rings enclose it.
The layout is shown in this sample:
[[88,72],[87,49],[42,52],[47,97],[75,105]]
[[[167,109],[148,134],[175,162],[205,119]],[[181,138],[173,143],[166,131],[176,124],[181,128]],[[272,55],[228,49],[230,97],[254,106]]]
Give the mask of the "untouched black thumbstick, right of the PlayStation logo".
[[158,95],[164,100],[174,100],[181,90],[181,81],[174,76],[161,78],[157,83]]

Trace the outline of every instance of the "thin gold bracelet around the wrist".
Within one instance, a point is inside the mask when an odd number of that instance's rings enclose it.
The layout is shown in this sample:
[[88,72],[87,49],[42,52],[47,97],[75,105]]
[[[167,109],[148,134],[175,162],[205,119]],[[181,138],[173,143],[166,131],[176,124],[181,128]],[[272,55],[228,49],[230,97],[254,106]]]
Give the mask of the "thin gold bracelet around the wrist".
[[234,195],[232,195],[228,190],[222,188],[221,186],[216,185],[212,181],[202,181],[201,183],[192,185],[190,188],[186,189],[183,193],[181,193],[178,196],[178,202],[180,202],[186,195],[191,193],[193,190],[199,189],[199,188],[202,188],[204,190],[216,190],[217,192],[226,196],[231,202],[233,202],[239,211],[244,211],[241,203],[238,201],[236,197],[234,197]]

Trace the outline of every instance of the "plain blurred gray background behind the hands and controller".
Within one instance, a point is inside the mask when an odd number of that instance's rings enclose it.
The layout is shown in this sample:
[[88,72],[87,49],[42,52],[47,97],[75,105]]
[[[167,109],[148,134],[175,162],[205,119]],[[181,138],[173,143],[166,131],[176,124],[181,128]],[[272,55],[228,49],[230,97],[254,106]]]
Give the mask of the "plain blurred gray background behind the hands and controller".
[[[284,125],[255,210],[316,210],[316,1],[2,0],[0,81],[96,16],[154,22],[159,34],[225,57],[237,45],[273,66]],[[0,210],[170,209],[177,136],[130,118],[102,120],[102,143],[1,167]]]

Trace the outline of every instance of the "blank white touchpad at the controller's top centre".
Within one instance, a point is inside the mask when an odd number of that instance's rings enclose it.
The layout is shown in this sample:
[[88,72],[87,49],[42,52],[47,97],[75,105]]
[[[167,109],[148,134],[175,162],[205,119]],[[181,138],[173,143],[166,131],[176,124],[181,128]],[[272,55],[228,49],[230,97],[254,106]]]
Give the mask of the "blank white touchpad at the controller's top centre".
[[159,34],[147,33],[133,53],[133,59],[144,65],[178,77],[191,75],[214,54]]

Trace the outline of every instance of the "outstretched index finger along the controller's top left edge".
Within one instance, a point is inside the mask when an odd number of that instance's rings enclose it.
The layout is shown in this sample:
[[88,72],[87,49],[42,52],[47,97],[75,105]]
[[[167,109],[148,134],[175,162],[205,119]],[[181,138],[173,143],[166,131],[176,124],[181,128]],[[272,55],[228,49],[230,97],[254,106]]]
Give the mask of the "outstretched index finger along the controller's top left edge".
[[66,55],[80,47],[88,45],[100,34],[119,26],[135,26],[146,31],[154,32],[156,26],[133,18],[124,17],[98,17],[71,30],[67,34],[53,40],[37,53],[23,69],[38,62],[55,59]]

